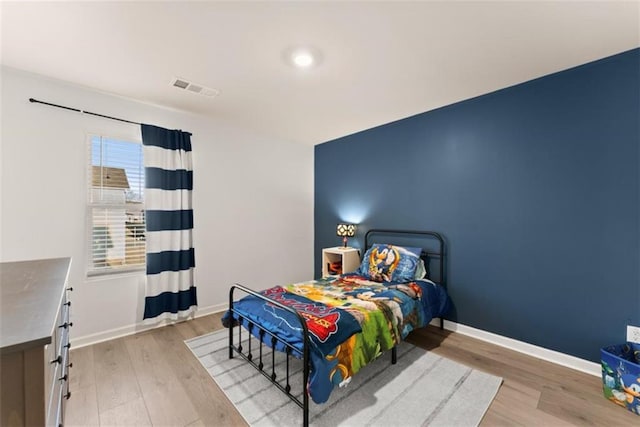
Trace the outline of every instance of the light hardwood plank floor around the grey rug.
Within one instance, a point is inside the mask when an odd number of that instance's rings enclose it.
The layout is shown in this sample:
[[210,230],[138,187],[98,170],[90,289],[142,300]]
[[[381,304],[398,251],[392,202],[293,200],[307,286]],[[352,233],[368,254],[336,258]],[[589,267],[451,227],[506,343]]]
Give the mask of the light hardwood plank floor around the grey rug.
[[[220,329],[214,314],[72,350],[65,426],[245,426],[184,340]],[[504,382],[482,426],[630,426],[598,377],[429,327],[409,341]]]

